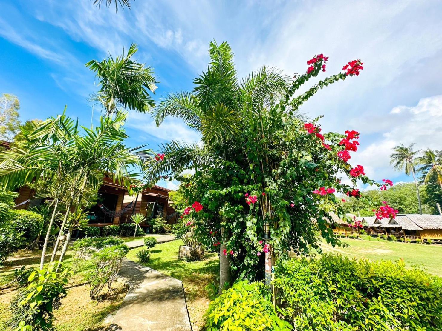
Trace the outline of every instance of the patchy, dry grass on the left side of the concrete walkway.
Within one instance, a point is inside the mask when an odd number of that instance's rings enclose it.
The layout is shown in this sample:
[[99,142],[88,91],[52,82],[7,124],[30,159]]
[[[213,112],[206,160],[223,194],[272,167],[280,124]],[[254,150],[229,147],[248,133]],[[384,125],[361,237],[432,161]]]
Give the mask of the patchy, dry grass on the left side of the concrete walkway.
[[[69,251],[68,251],[69,252]],[[20,250],[5,266],[0,268],[0,285],[13,279],[13,270],[22,265],[38,267],[41,251]],[[50,259],[50,256],[47,256]],[[65,264],[72,265],[72,257],[66,255]],[[89,298],[89,287],[84,283],[84,275],[91,267],[90,264],[82,266],[71,278],[67,289],[67,296],[62,299],[61,307],[54,313],[56,321],[54,326],[57,331],[93,331],[106,326],[105,317],[118,309],[126,296],[127,288],[121,283],[114,282],[112,290],[103,290],[98,301]],[[9,301],[15,295],[16,289],[10,287],[0,290],[0,330],[11,330],[6,322],[11,316]]]

